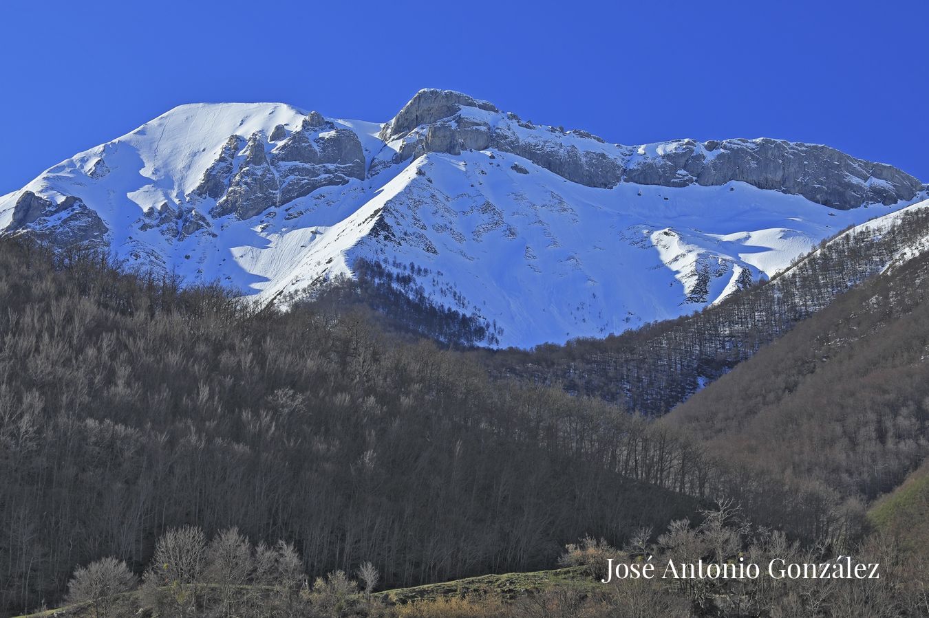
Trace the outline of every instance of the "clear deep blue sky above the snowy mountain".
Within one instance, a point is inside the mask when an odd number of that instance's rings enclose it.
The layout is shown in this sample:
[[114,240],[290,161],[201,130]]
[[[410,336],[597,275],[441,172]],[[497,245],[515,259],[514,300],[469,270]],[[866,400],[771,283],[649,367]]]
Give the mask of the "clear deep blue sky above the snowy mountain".
[[181,103],[388,120],[423,87],[637,144],[773,136],[929,182],[929,2],[5,0],[0,193]]

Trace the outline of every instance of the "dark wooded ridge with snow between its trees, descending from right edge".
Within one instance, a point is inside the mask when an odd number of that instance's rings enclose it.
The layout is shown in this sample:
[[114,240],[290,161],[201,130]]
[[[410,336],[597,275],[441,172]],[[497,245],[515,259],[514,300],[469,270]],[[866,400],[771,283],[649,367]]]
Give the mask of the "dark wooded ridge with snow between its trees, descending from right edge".
[[912,256],[929,238],[924,203],[886,219],[824,242],[782,276],[697,314],[602,340],[479,354],[498,377],[553,385],[658,416],[840,293]]

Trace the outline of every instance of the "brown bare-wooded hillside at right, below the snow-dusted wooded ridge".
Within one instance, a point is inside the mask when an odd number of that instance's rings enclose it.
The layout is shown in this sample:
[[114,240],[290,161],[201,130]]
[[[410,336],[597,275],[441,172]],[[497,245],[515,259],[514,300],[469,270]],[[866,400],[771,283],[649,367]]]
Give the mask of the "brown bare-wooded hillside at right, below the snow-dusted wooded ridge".
[[665,419],[736,466],[818,487],[863,516],[929,455],[927,299],[923,254],[845,292]]

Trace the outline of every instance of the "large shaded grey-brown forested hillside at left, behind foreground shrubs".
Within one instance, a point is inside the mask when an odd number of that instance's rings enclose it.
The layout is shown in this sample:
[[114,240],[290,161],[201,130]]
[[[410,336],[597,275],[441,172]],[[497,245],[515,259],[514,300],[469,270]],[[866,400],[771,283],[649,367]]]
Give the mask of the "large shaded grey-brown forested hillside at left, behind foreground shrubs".
[[282,314],[9,239],[0,303],[6,612],[90,560],[140,572],[182,524],[292,542],[310,575],[372,560],[394,586],[550,566],[713,486],[674,431],[494,384],[360,310]]

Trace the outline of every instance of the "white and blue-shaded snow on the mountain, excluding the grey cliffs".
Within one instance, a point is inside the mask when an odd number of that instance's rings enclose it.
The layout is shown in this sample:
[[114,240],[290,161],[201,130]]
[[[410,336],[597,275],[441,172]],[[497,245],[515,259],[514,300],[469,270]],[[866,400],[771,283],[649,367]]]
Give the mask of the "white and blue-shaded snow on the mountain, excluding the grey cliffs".
[[[22,190],[84,200],[110,228],[111,250],[130,265],[218,279],[260,298],[350,275],[358,257],[414,263],[428,269],[418,283],[436,303],[495,320],[501,345],[523,347],[690,313],[736,290],[742,269],[752,279],[770,277],[822,238],[909,205],[838,211],[738,182],[584,187],[486,150],[379,166],[364,181],[318,189],[245,221],[212,219],[215,202],[201,200],[195,208],[212,229],[183,240],[140,229],[144,212],[190,203],[229,135],[270,134],[278,124],[294,130],[306,113],[279,103],[181,106]],[[334,122],[359,135],[369,167],[398,148],[378,139],[379,123]],[[109,173],[91,177],[101,157]],[[0,228],[20,195],[0,198]],[[372,233],[379,222],[392,238]],[[707,293],[695,300],[701,273]]]

